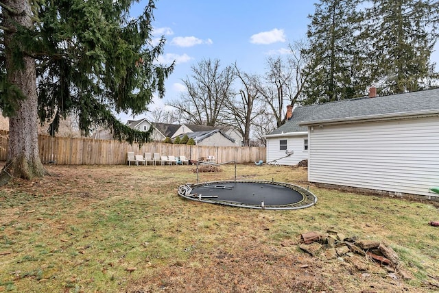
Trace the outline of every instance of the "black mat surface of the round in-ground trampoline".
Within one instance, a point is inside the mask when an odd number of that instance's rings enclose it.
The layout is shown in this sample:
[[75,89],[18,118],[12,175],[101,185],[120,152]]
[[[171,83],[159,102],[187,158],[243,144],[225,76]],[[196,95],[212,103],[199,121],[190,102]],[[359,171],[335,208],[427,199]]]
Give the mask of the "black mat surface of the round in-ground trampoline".
[[215,196],[212,198],[215,201],[231,201],[247,205],[261,205],[263,201],[265,206],[290,205],[304,199],[300,192],[286,186],[257,182],[206,183],[204,186],[193,188],[192,194],[205,199]]

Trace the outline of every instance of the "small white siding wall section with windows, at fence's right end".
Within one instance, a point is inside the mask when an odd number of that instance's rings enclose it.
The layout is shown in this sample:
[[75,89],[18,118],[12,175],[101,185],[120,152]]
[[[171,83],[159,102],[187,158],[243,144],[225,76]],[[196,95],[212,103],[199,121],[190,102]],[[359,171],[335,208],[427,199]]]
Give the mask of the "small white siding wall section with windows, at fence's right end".
[[[289,133],[291,135],[291,133]],[[308,151],[304,149],[305,139],[308,138],[307,134],[300,136],[276,136],[274,138],[267,138],[267,160],[265,162],[272,162],[277,160],[281,165],[296,165],[302,160],[308,159]],[[293,155],[285,157],[285,150],[279,149],[280,140],[287,140],[287,150],[294,151]],[[283,159],[278,160],[280,157]]]

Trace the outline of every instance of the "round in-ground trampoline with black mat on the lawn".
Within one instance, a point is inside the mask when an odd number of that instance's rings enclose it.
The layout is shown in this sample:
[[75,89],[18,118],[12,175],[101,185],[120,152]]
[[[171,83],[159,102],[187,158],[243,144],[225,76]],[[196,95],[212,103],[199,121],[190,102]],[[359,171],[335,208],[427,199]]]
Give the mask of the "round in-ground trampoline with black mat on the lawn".
[[193,201],[253,209],[302,209],[317,202],[314,194],[294,184],[247,180],[186,184],[178,195]]

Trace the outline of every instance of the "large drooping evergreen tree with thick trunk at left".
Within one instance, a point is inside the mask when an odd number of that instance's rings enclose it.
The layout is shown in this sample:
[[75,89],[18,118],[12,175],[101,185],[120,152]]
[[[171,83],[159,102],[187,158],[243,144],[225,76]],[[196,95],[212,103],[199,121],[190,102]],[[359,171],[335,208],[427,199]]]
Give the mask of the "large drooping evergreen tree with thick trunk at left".
[[84,135],[102,125],[119,139],[147,141],[150,131],[130,129],[113,113],[145,112],[154,92],[163,97],[174,64],[154,63],[165,43],[152,46],[154,1],[137,18],[129,15],[134,2],[0,1],[0,108],[10,118],[3,179],[45,174],[38,116],[51,122],[51,135],[75,114]]

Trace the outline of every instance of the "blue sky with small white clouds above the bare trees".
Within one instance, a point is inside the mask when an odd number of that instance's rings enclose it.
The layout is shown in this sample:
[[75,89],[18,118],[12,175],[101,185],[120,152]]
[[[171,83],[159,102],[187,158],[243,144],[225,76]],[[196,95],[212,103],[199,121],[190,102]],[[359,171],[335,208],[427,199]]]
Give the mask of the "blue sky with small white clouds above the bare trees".
[[[147,0],[132,6],[132,16],[143,12]],[[236,62],[245,73],[265,73],[270,56],[285,54],[288,45],[304,39],[310,0],[156,0],[154,37],[165,36],[165,52],[158,60],[171,64],[174,72],[165,84],[165,97],[154,99],[150,110],[163,109],[181,97],[182,79],[191,76],[191,66],[202,60],[219,60],[221,68]],[[165,107],[169,109],[169,107]],[[119,115],[122,123],[147,114]]]

